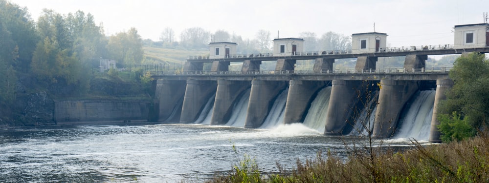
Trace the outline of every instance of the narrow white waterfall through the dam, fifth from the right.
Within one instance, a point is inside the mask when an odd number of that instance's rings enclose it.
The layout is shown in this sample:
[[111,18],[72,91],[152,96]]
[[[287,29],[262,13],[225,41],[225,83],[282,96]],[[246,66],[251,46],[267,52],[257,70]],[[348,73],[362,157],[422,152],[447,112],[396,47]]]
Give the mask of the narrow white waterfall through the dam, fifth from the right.
[[231,118],[229,118],[226,126],[244,127],[250,92],[251,88],[245,90],[239,101],[234,105]]

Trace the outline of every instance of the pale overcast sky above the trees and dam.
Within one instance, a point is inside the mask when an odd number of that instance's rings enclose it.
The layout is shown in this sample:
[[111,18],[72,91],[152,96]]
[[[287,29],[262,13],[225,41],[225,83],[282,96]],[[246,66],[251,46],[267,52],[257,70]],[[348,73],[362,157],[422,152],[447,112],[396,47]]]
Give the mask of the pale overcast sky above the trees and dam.
[[135,27],[158,41],[170,27],[178,39],[186,28],[225,30],[254,39],[264,29],[272,38],[333,31],[346,36],[387,33],[388,46],[453,44],[452,27],[483,23],[488,0],[11,0],[34,20],[42,9],[60,14],[82,10],[103,23],[105,34]]

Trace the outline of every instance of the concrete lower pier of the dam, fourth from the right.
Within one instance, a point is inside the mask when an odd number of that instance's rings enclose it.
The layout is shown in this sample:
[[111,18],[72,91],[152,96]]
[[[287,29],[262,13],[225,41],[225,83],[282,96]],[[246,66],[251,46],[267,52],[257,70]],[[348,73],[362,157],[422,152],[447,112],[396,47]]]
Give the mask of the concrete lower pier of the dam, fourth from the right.
[[326,86],[325,81],[289,81],[289,94],[285,105],[284,123],[304,122],[312,96]]

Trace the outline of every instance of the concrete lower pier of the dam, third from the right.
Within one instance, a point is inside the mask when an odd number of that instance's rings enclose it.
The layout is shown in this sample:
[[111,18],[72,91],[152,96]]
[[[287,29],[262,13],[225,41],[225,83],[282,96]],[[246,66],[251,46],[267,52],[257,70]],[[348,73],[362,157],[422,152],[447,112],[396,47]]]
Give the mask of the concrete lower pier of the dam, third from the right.
[[358,102],[356,92],[361,85],[359,81],[333,80],[330,103],[326,115],[325,134],[343,134],[348,122],[353,122],[354,108]]

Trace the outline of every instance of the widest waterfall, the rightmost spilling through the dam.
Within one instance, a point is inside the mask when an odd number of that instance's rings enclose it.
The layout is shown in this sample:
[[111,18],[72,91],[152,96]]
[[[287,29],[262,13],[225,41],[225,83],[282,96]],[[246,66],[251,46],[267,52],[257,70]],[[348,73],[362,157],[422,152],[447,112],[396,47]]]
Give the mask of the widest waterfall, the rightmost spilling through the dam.
[[417,92],[407,110],[401,114],[400,128],[397,129],[395,138],[414,138],[416,140],[428,140],[433,105],[435,103],[435,90]]

